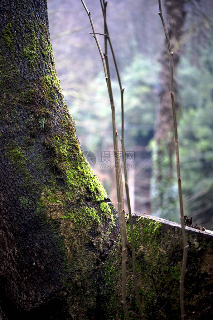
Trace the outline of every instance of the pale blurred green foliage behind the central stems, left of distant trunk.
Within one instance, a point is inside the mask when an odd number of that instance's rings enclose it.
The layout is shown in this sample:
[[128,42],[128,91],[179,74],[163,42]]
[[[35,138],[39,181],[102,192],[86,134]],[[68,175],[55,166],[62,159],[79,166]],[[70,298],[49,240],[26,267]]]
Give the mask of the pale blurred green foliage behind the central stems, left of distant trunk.
[[[113,68],[114,66],[111,66]],[[137,54],[121,74],[124,90],[125,140],[134,146],[140,132],[146,136],[153,130],[155,107],[158,102],[156,86],[158,84],[159,63],[155,59]],[[112,79],[117,129],[121,130],[121,98],[117,80]],[[77,124],[79,135],[86,136],[94,151],[104,150],[112,144],[111,108],[107,94],[104,74],[101,71],[88,84],[85,92],[92,93],[93,99],[86,94],[72,102],[72,116]],[[88,125],[89,124],[89,125]],[[121,132],[119,132],[121,135]],[[80,137],[79,137],[80,138]]]

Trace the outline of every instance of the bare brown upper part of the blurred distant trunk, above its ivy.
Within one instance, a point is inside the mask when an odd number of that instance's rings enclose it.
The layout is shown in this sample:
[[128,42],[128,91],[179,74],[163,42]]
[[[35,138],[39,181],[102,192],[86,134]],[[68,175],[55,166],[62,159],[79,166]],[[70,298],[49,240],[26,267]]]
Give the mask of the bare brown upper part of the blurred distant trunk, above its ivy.
[[[183,25],[185,22],[186,12],[184,10],[184,4],[186,0],[165,0],[166,12],[163,15],[167,18],[167,28],[169,38],[171,39],[171,46],[174,49],[173,55],[173,68],[174,74],[177,69],[178,62],[180,60],[180,48],[179,41],[183,35]],[[163,26],[162,26],[163,32]],[[174,151],[174,139],[173,139],[173,114],[171,107],[171,94],[170,94],[170,68],[169,68],[169,53],[167,43],[165,40],[165,50],[162,52],[160,59],[161,62],[161,93],[160,93],[160,105],[158,109],[157,118],[157,130],[156,140],[157,144],[160,145],[164,140],[167,142],[167,149],[170,158]],[[176,108],[178,104],[176,103]],[[168,134],[171,133],[170,136]],[[172,163],[170,164],[172,166]]]

